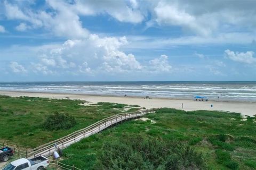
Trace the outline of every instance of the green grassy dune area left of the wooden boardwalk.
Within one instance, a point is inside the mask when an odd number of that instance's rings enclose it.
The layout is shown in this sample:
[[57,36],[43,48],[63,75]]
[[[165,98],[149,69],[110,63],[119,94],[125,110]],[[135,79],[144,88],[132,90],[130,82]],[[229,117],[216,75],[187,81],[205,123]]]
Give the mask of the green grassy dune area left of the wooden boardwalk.
[[[82,100],[0,96],[0,140],[23,148],[34,148],[85,128],[102,118],[129,110],[136,111],[138,108],[113,103],[87,105]],[[65,124],[59,128],[54,127],[54,122],[53,126],[51,122],[44,123],[55,112],[74,117],[76,124]],[[50,130],[47,130],[48,126]]]

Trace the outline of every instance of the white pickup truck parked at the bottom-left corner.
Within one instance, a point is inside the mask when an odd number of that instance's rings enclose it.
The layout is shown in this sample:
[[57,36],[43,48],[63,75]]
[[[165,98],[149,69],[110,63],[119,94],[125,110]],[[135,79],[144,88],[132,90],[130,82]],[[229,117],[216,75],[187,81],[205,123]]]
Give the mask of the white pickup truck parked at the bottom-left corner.
[[43,156],[33,159],[21,158],[5,166],[3,170],[43,170],[49,165],[49,160]]

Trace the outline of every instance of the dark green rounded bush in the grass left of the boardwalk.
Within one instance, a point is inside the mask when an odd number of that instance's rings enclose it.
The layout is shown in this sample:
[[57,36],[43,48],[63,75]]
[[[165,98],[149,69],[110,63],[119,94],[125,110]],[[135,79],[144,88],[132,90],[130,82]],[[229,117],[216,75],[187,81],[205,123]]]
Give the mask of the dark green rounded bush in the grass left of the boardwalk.
[[53,115],[49,115],[43,123],[43,128],[46,130],[65,130],[75,126],[76,120],[74,116],[69,114],[63,114],[55,112]]

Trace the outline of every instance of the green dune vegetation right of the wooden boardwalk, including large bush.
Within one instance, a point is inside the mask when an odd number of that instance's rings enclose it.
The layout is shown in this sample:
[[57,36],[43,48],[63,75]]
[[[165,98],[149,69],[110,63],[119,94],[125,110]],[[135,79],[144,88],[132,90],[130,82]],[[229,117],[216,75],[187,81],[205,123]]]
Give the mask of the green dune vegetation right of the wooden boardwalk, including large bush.
[[[255,169],[255,117],[162,108],[64,150],[81,169]],[[152,120],[152,121],[151,121]],[[155,122],[153,122],[155,121]]]

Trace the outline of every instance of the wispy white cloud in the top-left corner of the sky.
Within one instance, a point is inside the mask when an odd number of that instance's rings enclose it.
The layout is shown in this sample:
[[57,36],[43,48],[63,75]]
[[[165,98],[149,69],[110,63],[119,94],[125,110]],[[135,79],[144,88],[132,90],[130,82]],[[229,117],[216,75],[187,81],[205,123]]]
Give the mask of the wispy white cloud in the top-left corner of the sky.
[[54,36],[67,38],[85,38],[89,31],[82,27],[79,16],[62,1],[47,1],[55,12],[36,11],[30,8],[22,10],[18,5],[4,2],[5,15],[8,19],[23,20],[27,23],[21,23],[16,27],[19,31],[25,31],[31,28],[44,28],[49,30]]

